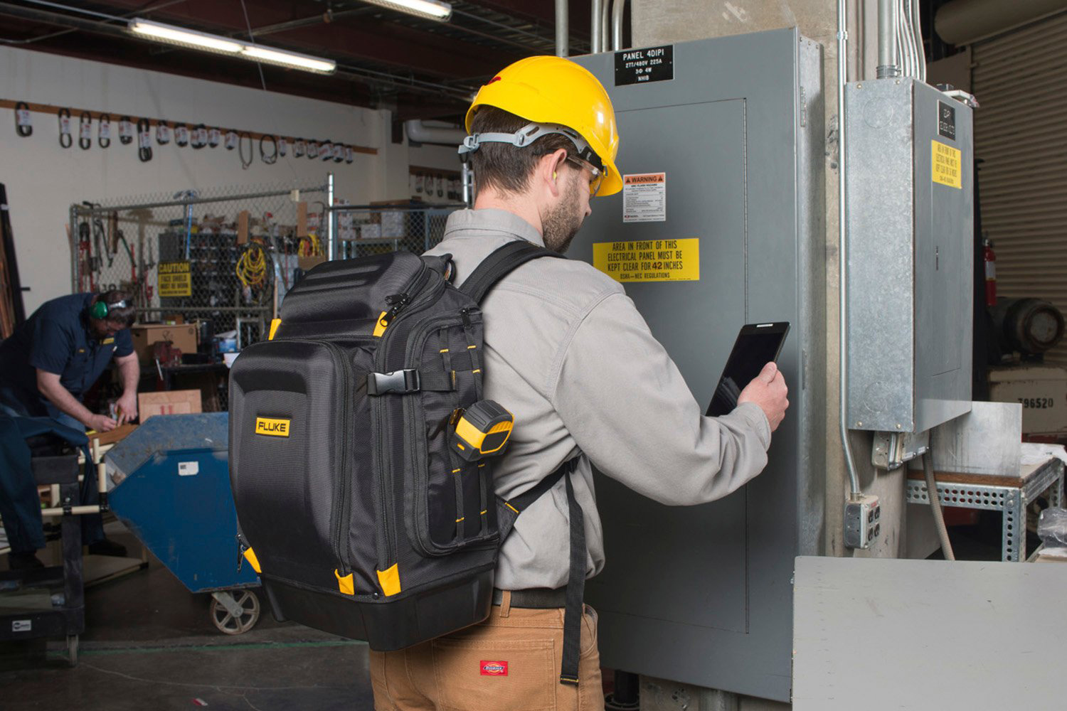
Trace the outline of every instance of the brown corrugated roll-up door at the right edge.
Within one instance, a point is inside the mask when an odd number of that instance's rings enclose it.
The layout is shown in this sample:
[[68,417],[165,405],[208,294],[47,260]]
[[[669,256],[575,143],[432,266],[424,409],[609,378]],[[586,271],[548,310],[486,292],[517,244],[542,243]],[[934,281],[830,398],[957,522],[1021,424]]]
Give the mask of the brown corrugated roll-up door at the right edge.
[[[975,43],[974,155],[997,293],[1067,313],[1067,13]],[[1067,339],[1046,355],[1067,366]]]

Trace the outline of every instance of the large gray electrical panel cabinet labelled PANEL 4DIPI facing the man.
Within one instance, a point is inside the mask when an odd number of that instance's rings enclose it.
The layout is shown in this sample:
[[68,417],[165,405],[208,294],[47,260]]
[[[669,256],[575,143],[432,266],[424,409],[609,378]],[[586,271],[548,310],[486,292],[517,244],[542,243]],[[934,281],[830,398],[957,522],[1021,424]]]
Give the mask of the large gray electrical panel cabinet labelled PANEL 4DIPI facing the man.
[[602,660],[789,700],[793,561],[824,548],[821,49],[776,30],[576,61],[611,96],[630,179],[592,201],[569,256],[625,285],[702,406],[742,325],[792,324],[792,404],[762,474],[689,507],[598,478],[607,563],[587,599]]

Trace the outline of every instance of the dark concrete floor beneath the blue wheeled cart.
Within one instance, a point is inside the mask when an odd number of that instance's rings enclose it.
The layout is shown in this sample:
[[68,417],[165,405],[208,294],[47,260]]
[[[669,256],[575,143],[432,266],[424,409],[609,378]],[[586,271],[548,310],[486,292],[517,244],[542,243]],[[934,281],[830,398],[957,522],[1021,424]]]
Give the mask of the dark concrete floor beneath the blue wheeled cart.
[[[140,550],[117,522],[108,535]],[[223,634],[210,601],[155,559],[90,587],[76,667],[58,640],[0,643],[0,709],[373,708],[365,643],[280,624],[267,610],[249,632]]]

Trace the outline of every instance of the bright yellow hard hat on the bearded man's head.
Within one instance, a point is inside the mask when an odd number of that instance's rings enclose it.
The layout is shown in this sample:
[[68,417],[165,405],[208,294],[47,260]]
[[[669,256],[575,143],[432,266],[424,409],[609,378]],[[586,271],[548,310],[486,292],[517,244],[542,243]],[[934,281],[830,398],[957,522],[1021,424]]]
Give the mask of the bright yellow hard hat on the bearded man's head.
[[599,195],[622,190],[615,165],[619,129],[604,86],[588,69],[562,56],[528,56],[501,69],[478,91],[467,109],[466,129],[480,106],[496,107],[538,124],[574,129],[603,163]]

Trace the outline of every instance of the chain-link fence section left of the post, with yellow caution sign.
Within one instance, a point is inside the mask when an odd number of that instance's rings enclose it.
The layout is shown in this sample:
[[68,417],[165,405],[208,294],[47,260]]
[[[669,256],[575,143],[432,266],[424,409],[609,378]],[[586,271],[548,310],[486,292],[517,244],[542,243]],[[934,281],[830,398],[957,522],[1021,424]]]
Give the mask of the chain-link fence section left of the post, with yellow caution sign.
[[207,321],[240,348],[266,336],[296,270],[327,258],[327,184],[275,184],[74,205],[71,286],[122,289],[141,321]]

